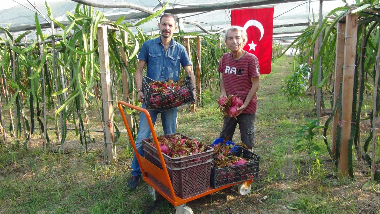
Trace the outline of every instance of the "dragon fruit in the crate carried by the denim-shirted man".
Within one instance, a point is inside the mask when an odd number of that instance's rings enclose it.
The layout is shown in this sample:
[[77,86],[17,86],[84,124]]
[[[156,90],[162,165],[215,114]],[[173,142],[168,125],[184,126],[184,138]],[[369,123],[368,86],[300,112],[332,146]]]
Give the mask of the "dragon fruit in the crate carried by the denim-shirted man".
[[177,107],[188,103],[190,90],[184,87],[185,79],[174,82],[169,79],[165,83],[160,81],[151,81],[150,88],[157,91],[159,94],[151,94],[149,103],[152,109],[159,109],[161,106]]

